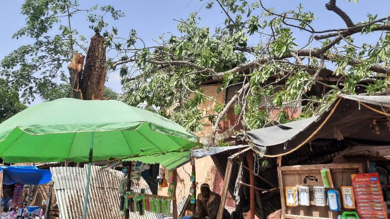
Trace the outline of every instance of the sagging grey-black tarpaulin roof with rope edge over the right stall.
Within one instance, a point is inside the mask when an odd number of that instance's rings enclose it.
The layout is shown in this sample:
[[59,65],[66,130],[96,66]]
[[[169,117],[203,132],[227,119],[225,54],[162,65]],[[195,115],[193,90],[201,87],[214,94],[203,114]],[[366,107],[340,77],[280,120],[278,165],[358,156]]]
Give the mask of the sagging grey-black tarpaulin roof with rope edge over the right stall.
[[345,95],[318,117],[251,130],[246,136],[259,153],[266,147],[269,157],[286,155],[315,139],[390,143],[389,109],[390,96]]

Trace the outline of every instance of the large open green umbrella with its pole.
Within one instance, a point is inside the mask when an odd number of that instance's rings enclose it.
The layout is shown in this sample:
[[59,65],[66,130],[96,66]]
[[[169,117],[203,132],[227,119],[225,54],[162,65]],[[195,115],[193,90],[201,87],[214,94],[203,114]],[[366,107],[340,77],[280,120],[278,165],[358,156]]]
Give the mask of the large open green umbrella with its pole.
[[[115,100],[62,98],[21,111],[0,124],[6,163],[89,162],[189,150],[198,138],[156,113]],[[93,153],[93,155],[92,155]]]

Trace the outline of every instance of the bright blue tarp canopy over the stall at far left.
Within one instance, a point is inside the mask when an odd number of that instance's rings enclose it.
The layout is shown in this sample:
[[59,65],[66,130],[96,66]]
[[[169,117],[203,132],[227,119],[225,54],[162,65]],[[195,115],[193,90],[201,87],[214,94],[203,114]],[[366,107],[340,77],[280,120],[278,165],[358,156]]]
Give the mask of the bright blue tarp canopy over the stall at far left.
[[52,180],[50,170],[38,169],[36,166],[1,166],[3,184],[15,183],[26,185],[40,185]]

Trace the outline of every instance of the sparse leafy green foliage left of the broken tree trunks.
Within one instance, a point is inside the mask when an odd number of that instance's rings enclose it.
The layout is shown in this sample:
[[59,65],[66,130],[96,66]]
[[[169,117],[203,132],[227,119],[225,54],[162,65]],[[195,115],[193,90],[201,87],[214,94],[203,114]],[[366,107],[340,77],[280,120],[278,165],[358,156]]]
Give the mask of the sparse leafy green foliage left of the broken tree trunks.
[[63,96],[56,92],[64,89],[63,83],[69,83],[64,66],[76,52],[86,54],[88,50],[87,38],[72,28],[72,23],[86,20],[85,28],[108,36],[117,31],[109,27],[107,15],[113,19],[124,16],[111,5],[85,9],[77,0],[25,0],[21,14],[26,16],[26,23],[13,38],[27,37],[34,42],[5,56],[0,62],[0,76],[19,89],[25,102],[36,95],[43,99]]

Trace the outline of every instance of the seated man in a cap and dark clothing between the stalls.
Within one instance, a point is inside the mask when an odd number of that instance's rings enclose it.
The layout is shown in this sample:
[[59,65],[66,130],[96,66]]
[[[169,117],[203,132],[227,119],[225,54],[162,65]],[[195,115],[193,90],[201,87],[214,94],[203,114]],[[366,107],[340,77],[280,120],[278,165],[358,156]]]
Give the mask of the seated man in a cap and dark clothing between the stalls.
[[[221,197],[210,190],[210,185],[203,183],[200,186],[200,194],[196,200],[195,217],[200,219],[216,219],[218,214]],[[228,210],[223,209],[222,219],[229,219],[230,214]]]

